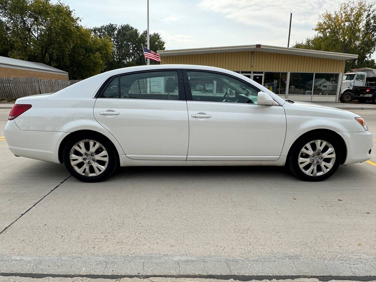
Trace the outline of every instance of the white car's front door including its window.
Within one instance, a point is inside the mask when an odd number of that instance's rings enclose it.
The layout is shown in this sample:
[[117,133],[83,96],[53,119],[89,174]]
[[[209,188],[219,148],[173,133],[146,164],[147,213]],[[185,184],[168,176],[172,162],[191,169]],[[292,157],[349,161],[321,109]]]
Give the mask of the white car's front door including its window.
[[282,106],[257,105],[251,84],[225,73],[183,70],[189,118],[187,161],[279,158],[286,134]]

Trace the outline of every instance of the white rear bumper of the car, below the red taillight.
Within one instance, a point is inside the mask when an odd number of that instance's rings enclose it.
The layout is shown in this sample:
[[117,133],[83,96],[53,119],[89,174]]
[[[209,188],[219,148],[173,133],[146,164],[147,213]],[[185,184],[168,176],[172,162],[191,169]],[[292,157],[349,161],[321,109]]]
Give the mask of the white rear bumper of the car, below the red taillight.
[[21,130],[14,120],[8,121],[4,129],[9,150],[14,155],[60,163],[58,149],[68,132]]

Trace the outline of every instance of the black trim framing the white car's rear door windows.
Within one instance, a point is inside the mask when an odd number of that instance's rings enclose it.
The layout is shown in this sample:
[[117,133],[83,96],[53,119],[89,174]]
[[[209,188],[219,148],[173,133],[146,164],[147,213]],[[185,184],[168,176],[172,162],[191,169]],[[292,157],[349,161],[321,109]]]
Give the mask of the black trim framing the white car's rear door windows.
[[[120,77],[122,76],[126,76],[128,74],[138,74],[138,73],[152,73],[152,72],[155,72],[155,71],[176,71],[176,74],[177,74],[177,91],[178,91],[178,95],[179,95],[179,100],[161,100],[161,99],[128,99],[128,98],[120,98]],[[118,88],[119,88],[119,92],[118,92],[118,95],[119,97],[118,98],[106,98],[106,97],[102,97],[103,96],[103,93],[105,92],[106,88],[108,87],[108,85],[112,82],[112,80],[115,78],[115,77],[118,77]],[[130,71],[130,72],[127,72],[127,73],[118,73],[118,74],[115,74],[113,76],[110,76],[108,79],[105,80],[105,82],[100,86],[100,88],[98,89],[97,93],[95,94],[94,96],[94,99],[126,99],[126,100],[156,100],[156,101],[186,101],[186,96],[185,96],[185,89],[184,89],[184,84],[183,84],[183,76],[182,76],[182,70],[179,69],[179,68],[161,68],[161,69],[157,69],[157,70],[141,70],[141,71]]]

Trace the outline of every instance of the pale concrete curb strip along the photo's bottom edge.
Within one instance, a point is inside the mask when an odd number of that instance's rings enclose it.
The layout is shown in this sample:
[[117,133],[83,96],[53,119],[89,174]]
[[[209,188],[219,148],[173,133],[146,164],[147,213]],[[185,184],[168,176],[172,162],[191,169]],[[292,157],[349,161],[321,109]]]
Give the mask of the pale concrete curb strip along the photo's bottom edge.
[[[0,275],[208,277],[373,276],[375,258],[311,259],[297,255],[233,259],[188,256],[1,257]],[[22,276],[22,275],[21,275]]]

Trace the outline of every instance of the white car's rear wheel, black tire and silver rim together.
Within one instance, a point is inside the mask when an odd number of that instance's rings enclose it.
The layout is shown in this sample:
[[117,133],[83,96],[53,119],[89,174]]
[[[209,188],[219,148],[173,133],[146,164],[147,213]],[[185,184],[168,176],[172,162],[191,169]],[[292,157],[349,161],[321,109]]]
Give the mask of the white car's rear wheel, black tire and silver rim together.
[[118,158],[114,145],[103,136],[80,134],[63,150],[64,165],[77,179],[99,182],[114,173]]

